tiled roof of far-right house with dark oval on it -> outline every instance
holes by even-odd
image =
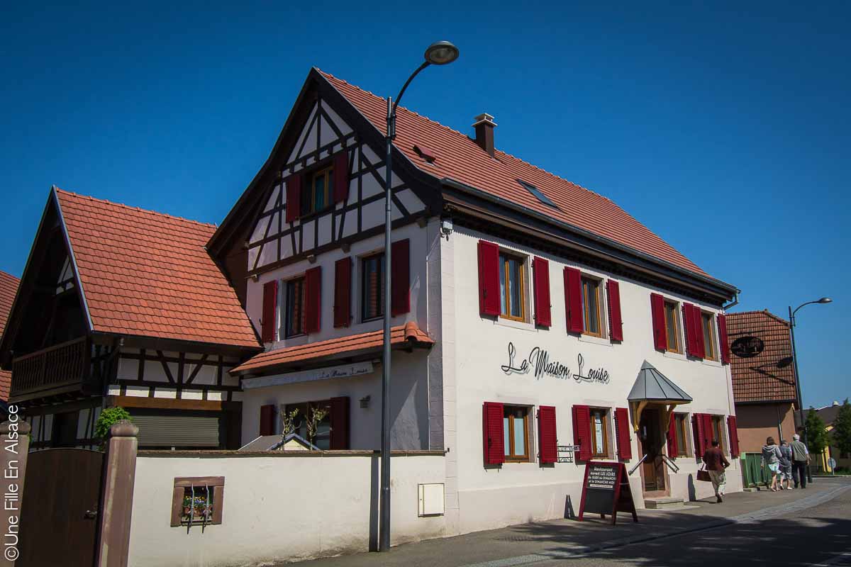
[[[730,354],[733,397],[736,402],[794,400],[795,369],[789,323],[768,311],[743,311],[727,315],[727,334],[733,344],[740,337],[758,337],[765,343],[761,354],[740,358]],[[784,360],[778,367],[778,362]]]

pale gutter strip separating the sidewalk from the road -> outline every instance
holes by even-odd
[[[851,486],[839,486],[814,496],[806,496],[797,502],[760,508],[755,512],[743,513],[731,518],[717,519],[714,522],[710,521],[705,524],[695,525],[691,528],[683,528],[682,530],[669,531],[658,535],[625,537],[620,540],[612,540],[603,544],[579,546],[574,551],[529,553],[527,555],[517,555],[516,557],[493,559],[491,561],[483,561],[482,563],[467,564],[463,567],[514,567],[515,565],[528,565],[539,563],[540,561],[551,561],[553,559],[580,558],[591,555],[591,553],[594,552],[602,551],[603,549],[626,547],[637,543],[643,543],[645,541],[660,540],[666,537],[683,536],[685,534],[694,533],[695,531],[715,530],[717,528],[733,524],[750,524],[758,520],[780,516],[785,513],[799,512],[809,507],[819,506],[820,504],[833,500],[835,496],[838,496],[845,490],[851,490]],[[834,562],[826,565],[839,565],[839,563]]]

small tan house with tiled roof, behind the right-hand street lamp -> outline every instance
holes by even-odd
[[[768,311],[727,315],[730,371],[742,451],[760,452],[765,439],[795,434],[795,365],[789,322]]]

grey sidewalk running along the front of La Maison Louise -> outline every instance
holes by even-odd
[[[505,559],[505,565],[533,563],[541,557],[560,558],[657,539],[684,531],[705,530],[734,521],[742,522],[808,507],[831,497],[851,479],[819,479],[806,490],[734,493],[724,502],[688,502],[676,511],[639,510],[638,523],[628,513],[619,513],[618,524],[585,516],[585,522],[557,519],[518,524],[500,530],[480,531],[391,548],[389,553],[357,553],[336,558],[302,562],[305,567],[463,567]],[[524,560],[528,556],[528,560]],[[500,561],[500,563],[503,563]],[[282,564],[283,565],[283,564]]]

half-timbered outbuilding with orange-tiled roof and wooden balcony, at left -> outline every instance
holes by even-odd
[[[114,405],[143,448],[242,445],[228,370],[260,345],[204,249],[214,230],[50,190],[0,343],[32,448],[96,445]]]

